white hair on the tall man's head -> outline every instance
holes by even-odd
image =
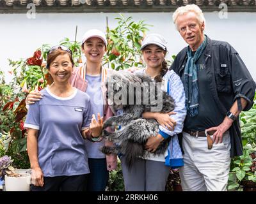
[[[177,25],[177,18],[180,15],[184,15],[185,13],[188,13],[188,12],[191,12],[191,11],[196,14],[196,18],[198,19],[200,24],[202,24],[203,22],[205,24],[204,13],[199,8],[199,6],[197,6],[195,4],[188,4],[187,6],[180,6],[179,8],[177,8],[177,10],[172,15],[173,22],[175,23],[176,29],[178,31],[179,31],[179,29],[178,29],[178,25]]]

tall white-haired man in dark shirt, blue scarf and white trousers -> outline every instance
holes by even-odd
[[[173,22],[188,43],[171,67],[184,84],[188,111],[182,131],[182,189],[226,191],[230,156],[243,154],[239,113],[252,107],[255,82],[230,44],[204,34],[198,6],[177,8]]]

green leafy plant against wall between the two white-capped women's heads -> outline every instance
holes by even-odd
[[[143,66],[141,58],[141,40],[148,31],[144,20],[134,22],[132,17],[125,18],[120,14],[118,26],[109,29],[107,25],[108,47],[104,56],[104,64],[112,69],[128,69]]]

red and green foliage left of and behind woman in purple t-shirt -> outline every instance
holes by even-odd
[[[60,41],[74,53],[74,62],[79,64],[81,45],[68,38]],[[9,59],[13,75],[12,82],[6,84],[4,73],[0,71],[0,135],[1,147],[13,157],[13,164],[19,168],[29,168],[26,152],[26,129],[24,117],[27,114],[25,98],[29,91],[44,89],[51,84],[51,77],[45,68],[47,52],[51,46],[45,44],[38,48],[33,57],[12,61]],[[42,50],[42,51],[41,51]]]

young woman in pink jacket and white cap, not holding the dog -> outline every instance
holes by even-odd
[[[113,112],[106,103],[106,92],[102,82],[113,70],[102,66],[102,58],[106,52],[107,40],[102,31],[91,29],[83,36],[82,50],[86,57],[86,63],[72,71],[70,83],[73,87],[86,92],[90,96],[92,113],[103,120],[113,115]],[[28,104],[40,100],[42,96],[38,92],[31,92],[26,101]],[[87,191],[105,191],[108,182],[108,171],[116,168],[116,155],[105,156],[100,152],[102,142],[90,142],[86,140],[85,149],[88,152],[88,163],[90,175],[88,178]],[[105,145],[112,145],[106,143]]]

